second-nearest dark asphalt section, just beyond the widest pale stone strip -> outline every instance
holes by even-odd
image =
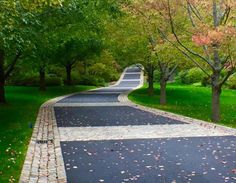
[[[59,127],[185,124],[129,106],[55,107]]]

